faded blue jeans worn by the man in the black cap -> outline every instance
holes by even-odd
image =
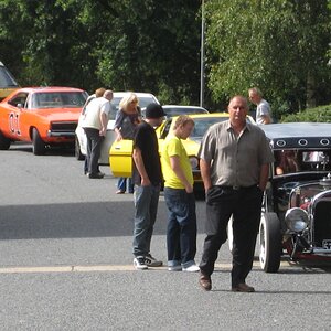
[[[153,226],[157,220],[160,185],[135,186],[136,206],[134,228],[134,255],[148,256]]]

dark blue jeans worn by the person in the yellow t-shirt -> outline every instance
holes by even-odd
[[[164,188],[168,206],[167,248],[168,266],[182,265],[188,268],[195,264],[196,214],[193,193],[185,190]]]

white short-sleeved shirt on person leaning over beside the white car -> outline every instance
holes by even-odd
[[[93,99],[85,110],[85,118],[83,119],[83,128],[102,129],[102,113],[109,115],[111,109],[110,102],[104,97]]]

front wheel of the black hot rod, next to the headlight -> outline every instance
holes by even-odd
[[[259,263],[265,273],[277,273],[281,258],[280,222],[276,213],[264,213],[259,224]]]

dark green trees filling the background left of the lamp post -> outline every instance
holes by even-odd
[[[200,6],[0,0],[1,61],[21,85],[104,85],[152,92],[167,103],[197,103]]]

